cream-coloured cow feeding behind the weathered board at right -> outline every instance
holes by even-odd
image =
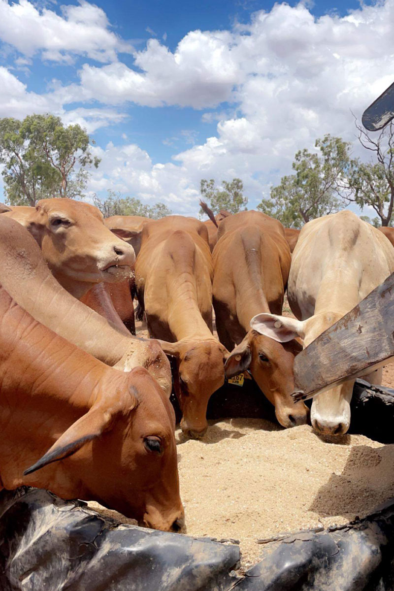
[[[299,336],[308,346],[393,271],[393,248],[379,230],[349,211],[320,217],[302,228],[292,255],[288,299],[298,320],[259,314],[251,324],[278,342]],[[381,376],[377,369],[366,379],[379,384]],[[313,399],[311,421],[318,433],[349,429],[353,385],[345,382]]]

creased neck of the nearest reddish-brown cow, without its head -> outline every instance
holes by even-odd
[[[2,397],[63,401],[76,414],[89,410],[100,391],[124,387],[127,375],[109,368],[38,323],[0,287]],[[19,402],[17,402],[19,400]],[[40,404],[40,402],[38,403]],[[60,409],[55,409],[61,415]]]

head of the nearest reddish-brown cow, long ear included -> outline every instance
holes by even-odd
[[[25,470],[31,476],[23,482],[66,498],[94,499],[139,525],[180,531],[184,511],[172,405],[146,369],[110,372],[116,387],[99,393],[90,410]]]

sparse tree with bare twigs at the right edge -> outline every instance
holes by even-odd
[[[348,202],[355,202],[363,209],[373,207],[379,216],[379,225],[389,226],[394,205],[394,126],[387,125],[377,138],[371,138],[356,124],[359,141],[374,154],[376,161],[363,163],[352,160],[347,178]],[[376,218],[375,218],[376,219]]]

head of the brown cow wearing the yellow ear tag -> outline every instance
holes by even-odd
[[[294,427],[308,421],[304,402],[294,404],[294,357],[302,350],[296,340],[278,343],[250,330],[226,361],[227,378],[249,369],[256,384],[275,407],[283,427]]]

